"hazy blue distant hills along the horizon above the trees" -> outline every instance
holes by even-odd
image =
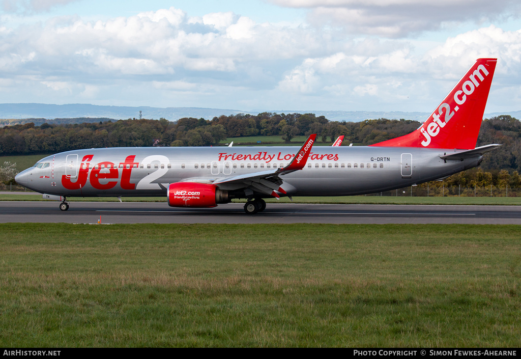
[[[0,126],[34,122],[39,126],[47,123],[83,123],[108,121],[108,119],[139,118],[166,118],[177,121],[183,117],[212,119],[221,115],[236,115],[239,113],[257,115],[261,112],[271,113],[314,113],[316,116],[325,116],[330,121],[358,122],[365,119],[412,119],[423,122],[430,115],[427,112],[386,112],[386,111],[316,111],[316,110],[267,110],[267,111],[240,111],[226,109],[206,109],[202,107],[129,107],[129,106],[98,106],[91,104],[49,105],[41,103],[3,103],[0,104]],[[511,115],[521,118],[521,111],[508,113],[489,113],[485,117]],[[15,120],[15,121],[13,121]],[[18,120],[18,121],[16,121]]]

